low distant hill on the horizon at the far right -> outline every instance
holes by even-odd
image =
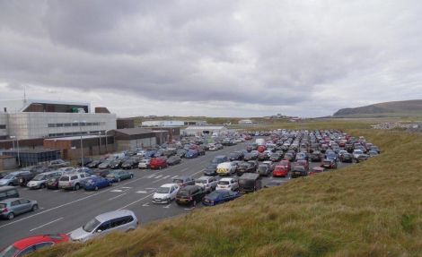
[[[334,117],[422,116],[422,100],[394,101],[365,107],[339,109]]]

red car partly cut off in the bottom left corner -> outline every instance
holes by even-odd
[[[69,236],[65,234],[30,236],[16,241],[4,248],[4,250],[0,252],[0,256],[26,256],[26,254],[40,250],[41,248],[68,241]]]

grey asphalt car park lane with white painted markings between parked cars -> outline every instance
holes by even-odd
[[[199,158],[183,158],[180,165],[163,170],[133,169],[133,179],[115,183],[111,187],[97,192],[63,191],[63,190],[29,190],[18,187],[21,197],[36,200],[40,210],[17,216],[13,220],[0,220],[0,249],[22,237],[70,233],[77,227],[83,226],[95,216],[110,211],[127,209],[133,210],[141,224],[153,220],[170,218],[187,213],[194,208],[181,207],[175,202],[157,205],[151,202],[154,190],[162,184],[171,183],[175,176],[203,176],[203,170],[216,155],[228,154],[233,150],[241,150],[245,144],[225,147],[224,150],[207,151]],[[318,163],[310,163],[310,168]],[[338,168],[347,164],[339,164]],[[289,178],[264,177],[262,184],[271,180],[286,182]],[[202,208],[198,205],[196,208]]]

